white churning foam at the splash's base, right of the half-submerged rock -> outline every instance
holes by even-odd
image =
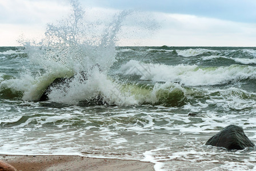
[[[138,101],[133,96],[122,92],[117,83],[112,82],[106,75],[98,71],[93,72],[91,77],[84,82],[79,82],[79,78],[72,80],[69,88],[65,89],[66,87],[53,88],[49,94],[50,100],[59,103],[76,104],[78,101],[90,101],[101,95],[103,100],[109,104],[138,104]]]

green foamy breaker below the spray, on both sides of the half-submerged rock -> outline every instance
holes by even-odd
[[[0,95],[6,99],[15,97],[37,101],[46,87],[56,78],[56,75],[46,75],[38,77],[37,80],[29,75],[20,79],[5,80],[0,84]],[[63,83],[51,87],[48,96],[50,101],[69,105],[93,104],[95,100],[102,100],[103,104],[125,106],[140,104],[180,106],[186,103],[187,95],[192,92],[191,89],[183,88],[176,83],[152,85],[116,83],[107,75],[96,71],[83,82],[79,76],[74,76],[68,85]]]

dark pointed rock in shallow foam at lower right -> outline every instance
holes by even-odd
[[[217,133],[217,135],[211,137],[205,145],[220,146],[227,150],[242,150],[246,147],[255,146],[245,135],[243,128],[237,125],[225,127],[221,132]]]

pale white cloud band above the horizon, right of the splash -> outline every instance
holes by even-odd
[[[162,19],[156,42],[169,46],[255,46],[256,24],[156,13]]]

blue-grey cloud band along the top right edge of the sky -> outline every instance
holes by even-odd
[[[151,12],[197,15],[235,22],[255,22],[255,0],[85,0],[85,6],[137,9]]]

